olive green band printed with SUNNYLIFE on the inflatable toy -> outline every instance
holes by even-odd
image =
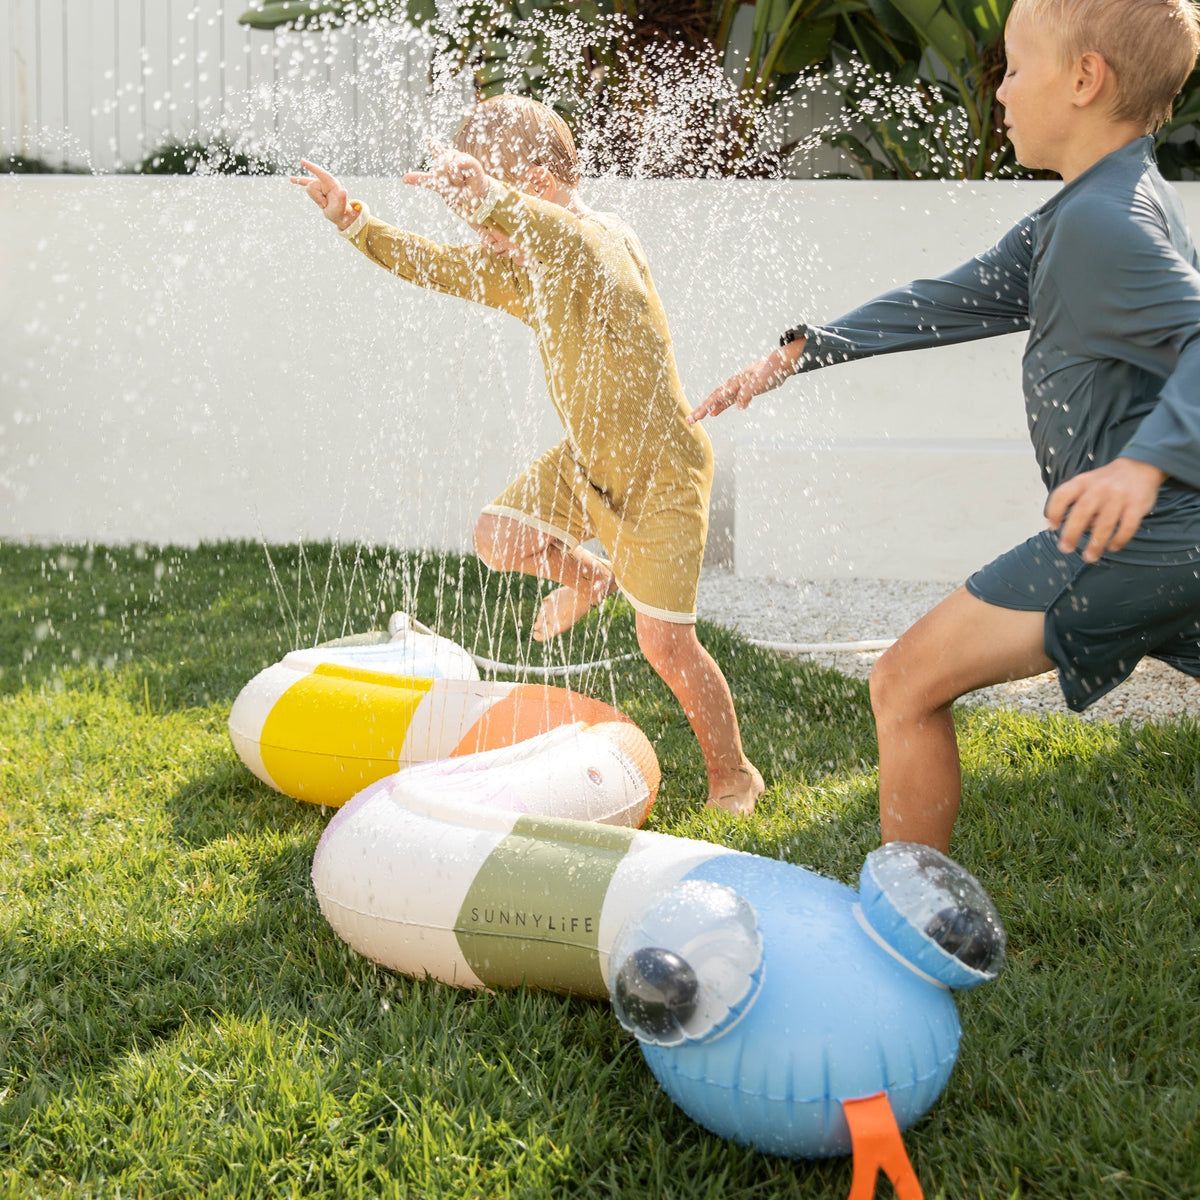
[[[475,875],[455,934],[488,988],[607,995],[600,910],[636,829],[518,817]]]

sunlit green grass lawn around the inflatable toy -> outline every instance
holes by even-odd
[[[491,658],[538,588],[329,546],[0,546],[0,1196],[842,1198],[659,1091],[608,1006],[476,995],[349,950],[308,868],[329,814],[226,733],[242,684],[394,608]],[[877,839],[865,685],[702,625],[768,791],[701,808],[683,714],[595,670],[655,743],[650,828],[848,883]],[[575,659],[634,648],[611,605]],[[905,1135],[926,1195],[1200,1196],[1200,731],[964,709],[954,854],[1008,928]],[[890,1195],[881,1184],[880,1195]]]

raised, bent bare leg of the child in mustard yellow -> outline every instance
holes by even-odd
[[[475,523],[475,553],[493,571],[522,571],[560,584],[541,602],[535,641],[557,637],[617,590],[607,564],[581,546],[568,550],[552,534],[485,512]]]

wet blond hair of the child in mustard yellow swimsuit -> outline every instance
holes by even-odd
[[[570,187],[580,181],[580,158],[566,121],[527,96],[493,96],[476,104],[455,131],[452,145],[514,186],[524,184],[530,167],[545,167]]]

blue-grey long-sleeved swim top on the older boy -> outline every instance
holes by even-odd
[[[1106,155],[1001,241],[808,338],[797,373],[1028,330],[1025,410],[1046,488],[1118,456],[1170,476],[1126,562],[1200,558],[1200,260],[1151,138]]]

